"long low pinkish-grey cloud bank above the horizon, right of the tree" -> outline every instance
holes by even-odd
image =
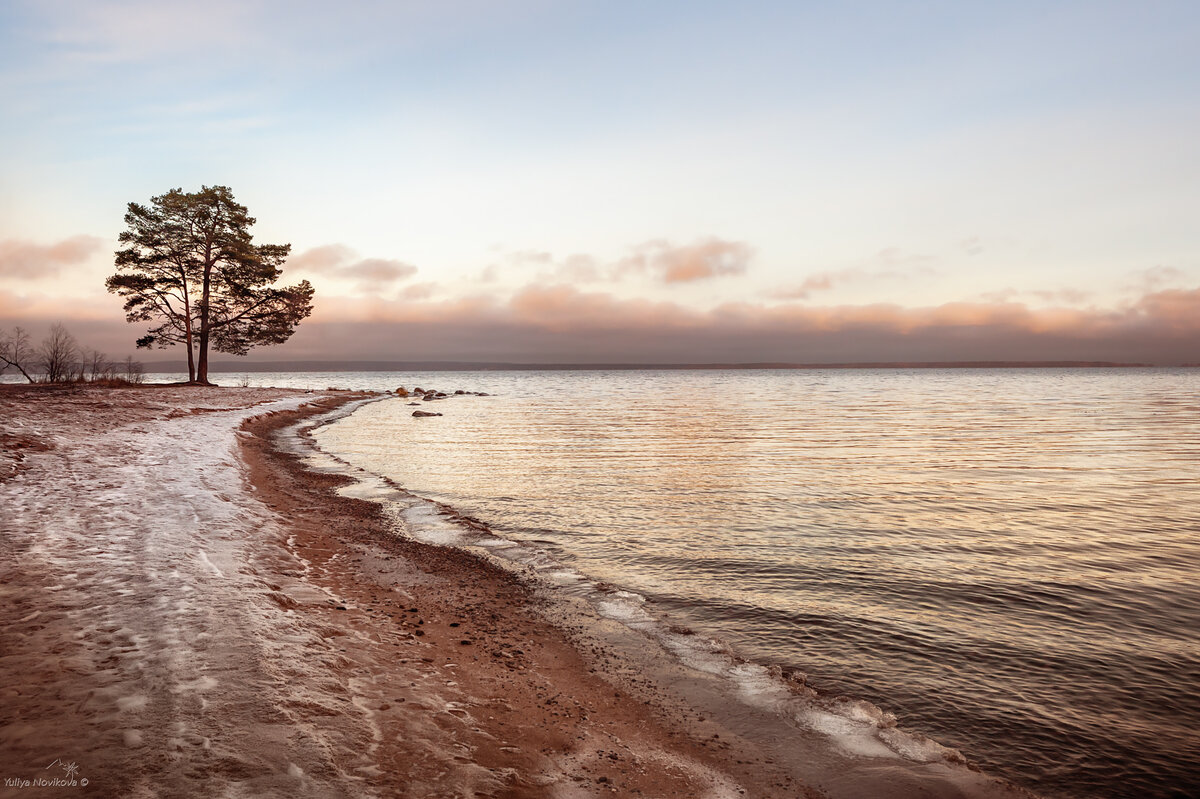
[[[314,322],[314,328],[330,332],[329,341],[346,341],[361,358],[397,360],[1200,360],[1200,289],[1147,294],[1109,310],[1030,308],[1019,302],[949,302],[924,308],[730,302],[700,311],[568,284],[530,284],[508,301],[488,296],[443,302],[380,300],[370,308],[346,301],[337,308],[326,306]]]

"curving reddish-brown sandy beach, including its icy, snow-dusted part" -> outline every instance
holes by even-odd
[[[512,573],[272,445],[359,396],[0,390],[2,795],[1025,795],[821,785],[655,701]]]

